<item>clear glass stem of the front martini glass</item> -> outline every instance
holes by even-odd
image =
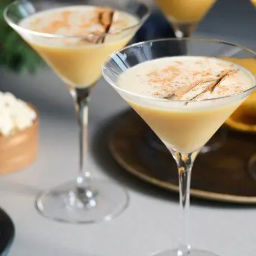
[[[177,163],[179,171],[179,192],[180,192],[180,241],[177,256],[189,256],[191,246],[189,243],[189,197],[191,170],[195,158],[199,152],[184,154],[171,150]]]

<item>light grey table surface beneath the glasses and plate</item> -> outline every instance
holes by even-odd
[[[228,24],[232,26],[233,30],[228,29],[232,35],[227,35],[224,28],[223,33],[221,28],[219,31],[218,26],[223,24],[220,21],[216,29],[212,29],[212,22],[217,22],[227,13],[227,10],[222,10],[224,2],[233,3],[228,12],[237,12],[232,15],[233,20],[225,24],[225,29]],[[254,38],[251,35],[255,33],[255,22],[249,28],[252,20],[249,23],[244,20],[249,9],[249,13],[255,10],[248,5],[246,13],[241,13],[246,7],[237,8],[238,2],[242,4],[246,0],[220,0],[196,35],[231,39],[253,47],[256,40],[255,35]],[[234,31],[234,22],[240,28],[237,29],[240,36]],[[247,36],[242,33],[243,26],[250,31]],[[91,147],[87,166],[93,177],[118,180],[127,186],[131,196],[129,207],[115,220],[93,225],[58,223],[40,216],[34,207],[38,191],[74,179],[77,173],[77,126],[72,100],[60,79],[47,68],[34,76],[15,76],[1,70],[0,77],[1,90],[15,92],[40,111],[40,154],[37,161],[20,173],[0,178],[0,205],[10,214],[16,227],[10,256],[149,256],[177,246],[177,195],[131,177],[109,157],[105,127],[127,105],[104,81],[100,81],[92,92]],[[191,205],[191,243],[196,248],[223,256],[255,255],[255,228],[256,207],[207,202],[193,202]]]

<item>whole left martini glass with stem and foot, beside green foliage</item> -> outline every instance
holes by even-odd
[[[79,7],[76,10],[80,10],[88,6],[99,6],[100,10],[105,7],[112,8],[115,12],[133,17],[135,22],[122,29],[108,29],[105,33],[94,33],[87,31],[86,28],[82,33],[75,33],[76,25],[68,27],[75,29],[74,33],[71,29],[66,34],[42,33],[20,26],[20,22],[31,15],[44,15],[63,7],[65,14],[69,15],[74,8]],[[127,206],[127,191],[122,186],[107,180],[91,179],[90,170],[84,168],[84,107],[88,104],[92,86],[101,77],[101,65],[106,56],[124,47],[145,22],[148,14],[148,7],[136,0],[122,1],[122,4],[115,0],[19,0],[9,4],[4,10],[6,22],[44,58],[67,85],[77,111],[79,173],[76,179],[38,195],[36,208],[45,217],[72,223],[92,223],[111,220]],[[42,20],[47,19],[44,16],[40,17],[43,17]],[[55,28],[54,26],[64,21],[57,19],[52,23],[52,27]],[[88,41],[93,44],[88,44]]]

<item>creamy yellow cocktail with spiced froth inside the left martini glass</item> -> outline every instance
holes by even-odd
[[[127,32],[124,29],[135,24],[138,24],[138,19],[126,12],[95,6],[71,6],[36,13],[21,20],[19,25],[31,31],[59,35],[51,38],[22,33],[64,81],[86,87],[101,76],[104,58],[131,40],[137,28]],[[116,33],[118,31],[120,33]],[[102,37],[106,32],[109,34]],[[95,36],[83,38],[92,33]]]

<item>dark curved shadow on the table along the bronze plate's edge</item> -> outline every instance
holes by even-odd
[[[120,113],[119,115],[123,115]],[[137,177],[128,173],[124,168],[122,168],[111,155],[109,150],[109,135],[115,127],[115,122],[118,119],[118,116],[113,116],[108,120],[104,120],[100,125],[99,129],[94,131],[92,137],[90,138],[90,148],[92,156],[94,157],[96,163],[100,168],[113,178],[117,182],[124,184],[129,189],[133,189],[138,193],[143,193],[148,196],[154,196],[162,200],[169,200],[172,202],[179,203],[179,195],[172,191],[167,191],[165,189],[157,188],[152,184],[144,182]],[[236,208],[236,209],[250,209],[255,208],[256,205],[241,205],[234,203],[225,203],[225,202],[213,202],[207,201],[200,198],[191,198],[191,204],[202,206],[202,207],[222,207],[222,208]]]

